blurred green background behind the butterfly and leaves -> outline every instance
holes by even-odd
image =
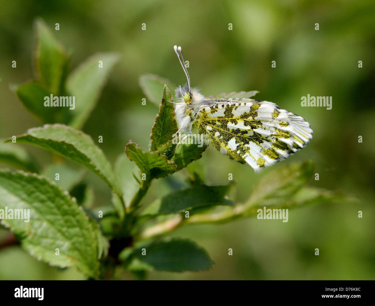
[[[375,279],[374,16],[370,0],[3,2],[0,138],[41,125],[10,90],[11,84],[33,77],[36,17],[42,17],[72,52],[72,68],[100,51],[121,55],[83,128],[94,139],[103,136],[101,148],[112,164],[129,139],[148,147],[158,109],[150,102],[141,105],[139,76],[150,72],[175,84],[186,82],[172,48],[181,45],[192,85],[201,87],[203,94],[258,90],[256,99],[273,101],[311,124],[311,143],[274,167],[311,159],[320,175],[311,185],[341,190],[359,201],[290,210],[287,223],[252,218],[180,228],[173,235],[197,241],[215,265],[199,273],[153,272],[149,279]],[[60,30],[54,30],[55,23]],[[229,23],[233,30],[228,30]],[[314,30],[315,23],[319,30]],[[17,61],[16,69],[12,60]],[[271,68],[272,60],[276,68]],[[308,94],[332,96],[332,110],[301,107],[301,97]],[[25,148],[40,164],[51,161],[48,152]],[[189,170],[198,170],[214,185],[227,184],[228,173],[233,173],[234,202],[245,201],[269,171],[256,174],[212,148],[188,168],[173,177],[183,182]],[[84,179],[95,189],[95,205],[110,203],[109,188],[95,174],[86,172]],[[172,183],[171,178],[155,181],[146,200],[170,192]],[[0,236],[5,233],[0,229]],[[228,248],[233,256],[228,256]],[[117,277],[132,278],[121,271]],[[0,279],[84,276],[74,268],[58,270],[38,262],[14,246],[0,250]]]

